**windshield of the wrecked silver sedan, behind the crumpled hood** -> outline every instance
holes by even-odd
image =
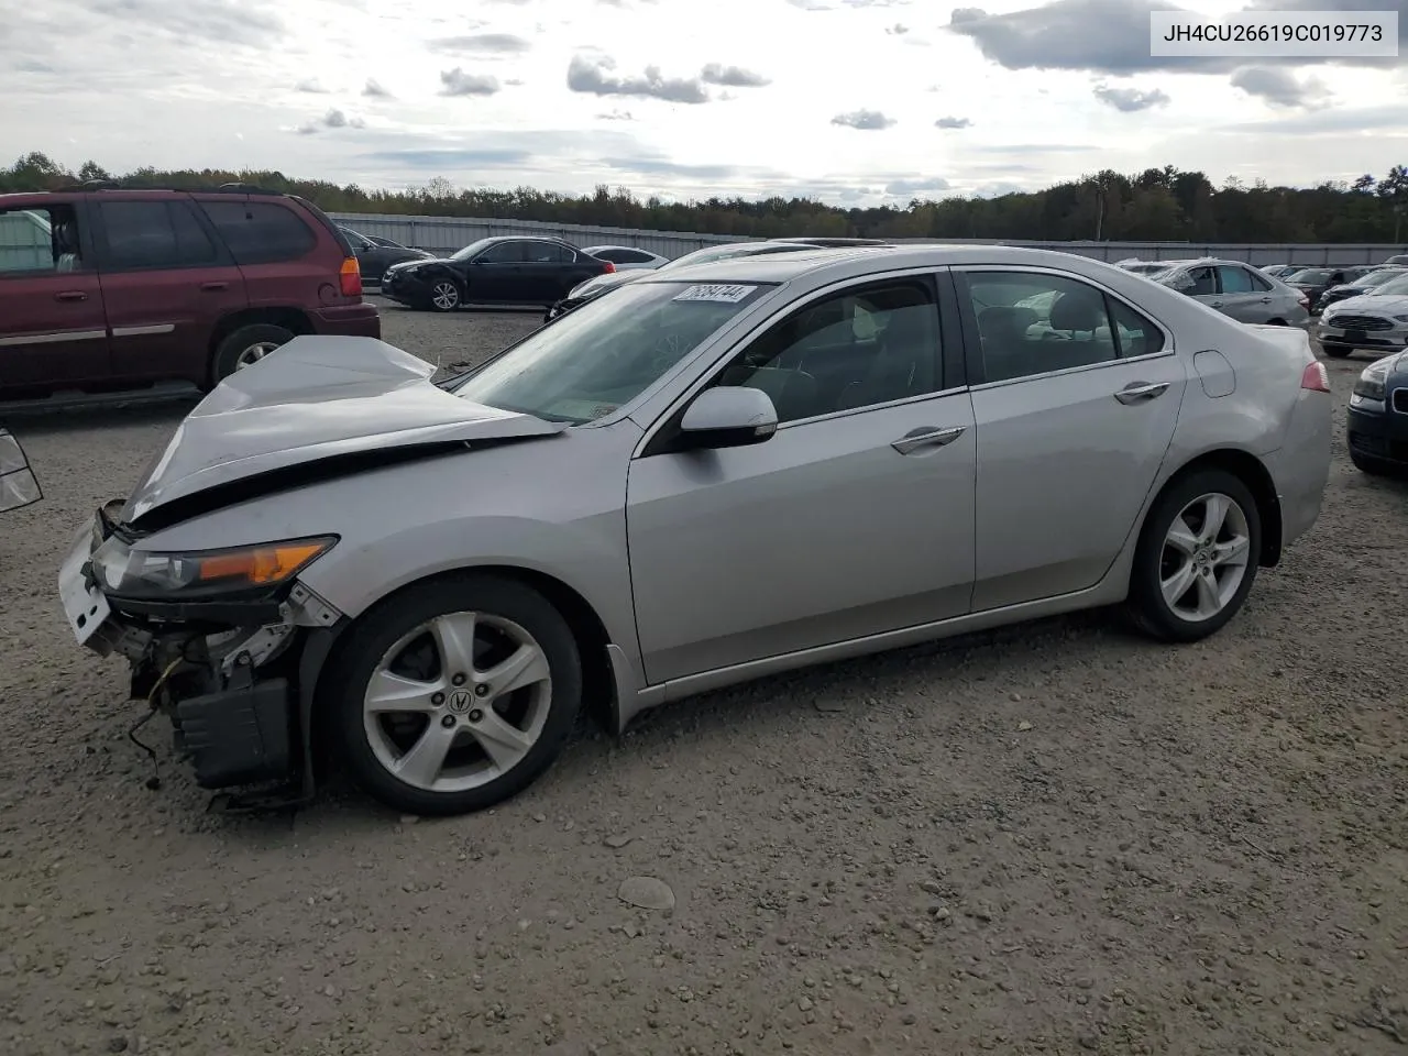
[[[580,425],[643,393],[769,289],[631,283],[534,331],[453,391]]]

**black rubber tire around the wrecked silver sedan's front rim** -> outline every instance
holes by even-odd
[[[363,725],[363,700],[387,650],[421,624],[460,611],[513,621],[535,639],[551,677],[548,715],[536,742],[505,773],[472,788],[432,791],[401,780],[377,759]],[[375,605],[338,645],[327,670],[332,674],[320,690],[324,715],[356,783],[393,810],[427,817],[467,814],[517,796],[562,752],[582,707],[582,656],[567,621],[531,587],[480,573],[429,580]]]

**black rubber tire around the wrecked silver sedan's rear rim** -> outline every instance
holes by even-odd
[[[1236,593],[1228,598],[1219,612],[1205,620],[1187,620],[1164,600],[1160,586],[1164,566],[1164,539],[1173,527],[1173,520],[1183,510],[1205,494],[1222,494],[1240,508],[1246,520],[1249,541],[1246,570]],[[1139,543],[1135,548],[1135,562],[1129,572],[1129,600],[1125,610],[1140,631],[1164,642],[1197,642],[1217,634],[1238,614],[1246,596],[1256,582],[1262,558],[1262,517],[1256,497],[1242,480],[1222,469],[1200,469],[1170,482],[1155,500],[1145,520]]]

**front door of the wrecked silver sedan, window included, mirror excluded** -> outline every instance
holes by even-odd
[[[781,424],[755,446],[631,463],[650,683],[969,611],[973,407],[945,391],[929,276],[825,294],[711,383],[762,389]]]

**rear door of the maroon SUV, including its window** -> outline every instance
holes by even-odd
[[[203,382],[218,321],[248,304],[228,249],[183,197],[104,193],[93,213],[114,376]]]

